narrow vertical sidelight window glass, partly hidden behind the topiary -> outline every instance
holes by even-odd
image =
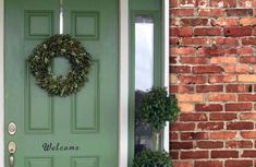
[[[154,20],[135,17],[135,153],[151,148],[151,130],[138,120],[139,100],[154,85]]]

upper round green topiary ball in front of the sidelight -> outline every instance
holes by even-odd
[[[141,100],[139,121],[148,123],[155,132],[160,132],[167,121],[174,121],[180,108],[174,95],[168,95],[164,87],[153,87]]]

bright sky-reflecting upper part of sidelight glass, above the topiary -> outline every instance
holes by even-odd
[[[135,90],[151,88],[154,82],[154,22],[137,16],[135,23]]]

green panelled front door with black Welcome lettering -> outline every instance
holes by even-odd
[[[118,0],[5,0],[5,167],[118,167]],[[26,60],[60,29],[82,41],[95,60],[76,95],[49,97]],[[69,71],[56,59],[56,73]],[[8,126],[15,122],[16,133]]]

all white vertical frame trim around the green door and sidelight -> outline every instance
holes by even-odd
[[[129,155],[129,0],[120,1],[119,167],[127,167]],[[164,11],[164,85],[169,85],[169,0]],[[0,0],[0,166],[4,166],[4,0]],[[164,135],[169,148],[169,128]]]

